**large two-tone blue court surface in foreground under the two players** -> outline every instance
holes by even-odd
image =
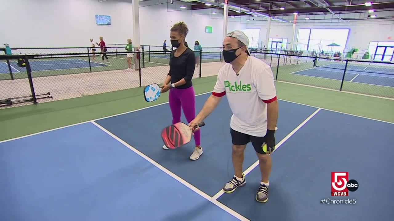
[[[208,96],[196,97],[197,110]],[[162,149],[160,131],[171,124],[168,103],[1,142],[0,220],[370,221],[394,216],[393,123],[280,100],[269,200],[258,203],[260,170],[250,144],[243,162],[246,185],[221,192],[233,175],[231,115],[224,98],[201,128],[204,153],[196,161],[189,160],[194,141]],[[332,197],[331,172],[343,171],[359,188]],[[322,204],[322,199],[356,203]]]

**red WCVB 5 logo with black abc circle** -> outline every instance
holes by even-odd
[[[348,179],[348,172],[331,172],[332,196],[348,196],[348,191],[355,192],[358,188],[356,180]]]

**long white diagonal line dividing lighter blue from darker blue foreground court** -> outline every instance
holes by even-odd
[[[139,156],[141,156],[142,158],[144,158],[145,160],[149,161],[151,164],[153,164],[154,166],[156,166],[157,168],[161,169],[164,173],[167,173],[168,175],[170,175],[172,178],[174,178],[175,180],[177,180],[178,182],[182,183],[183,185],[185,185],[186,187],[188,187],[190,190],[193,190],[195,193],[197,193],[198,195],[200,195],[201,197],[204,197],[206,200],[210,201],[211,203],[215,204],[216,206],[218,206],[219,208],[221,208],[222,210],[228,212],[229,214],[233,215],[234,217],[240,219],[240,220],[248,220],[245,217],[243,217],[241,214],[238,214],[237,212],[235,212],[234,210],[230,209],[229,207],[225,206],[224,204],[220,203],[219,201],[217,201],[216,199],[210,197],[208,194],[204,193],[203,191],[199,190],[198,188],[196,188],[195,186],[191,185],[190,183],[186,182],[184,179],[178,177],[177,175],[175,175],[175,173],[169,171],[168,169],[164,168],[162,165],[158,164],[156,161],[152,160],[151,158],[149,158],[147,155],[141,153],[140,151],[138,151],[136,148],[132,147],[130,144],[126,143],[125,141],[123,141],[121,138],[115,136],[113,133],[111,133],[110,131],[108,131],[107,129],[105,129],[104,127],[102,127],[101,125],[99,125],[98,123],[94,122],[94,121],[90,121],[91,123],[93,123],[93,125],[95,125],[96,127],[100,128],[102,131],[104,131],[105,133],[107,133],[108,135],[112,136],[112,138],[114,138],[115,140],[117,140],[118,142],[120,142],[121,144],[125,145],[126,147],[128,147],[130,150],[132,150],[134,153],[138,154]]]

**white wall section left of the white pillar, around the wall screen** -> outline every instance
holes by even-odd
[[[0,44],[11,47],[85,47],[89,38],[107,43],[132,38],[132,5],[97,0],[2,0]],[[110,15],[111,25],[96,25],[95,15]]]

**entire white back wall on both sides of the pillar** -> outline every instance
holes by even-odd
[[[1,24],[0,44],[11,47],[86,47],[89,38],[99,42],[99,36],[109,43],[125,44],[133,39],[131,0],[0,0],[0,16],[8,21]],[[163,2],[163,0],[161,0]],[[223,14],[210,11],[180,9],[180,4],[157,4],[160,0],[139,2],[140,42],[145,45],[171,46],[171,26],[180,20],[190,29],[186,41],[190,46],[198,40],[202,46],[222,45]],[[147,4],[157,4],[146,6]],[[145,6],[145,7],[144,7]],[[110,15],[111,25],[95,24],[95,15]],[[205,33],[212,26],[212,33]],[[228,30],[243,25],[229,24]]]

